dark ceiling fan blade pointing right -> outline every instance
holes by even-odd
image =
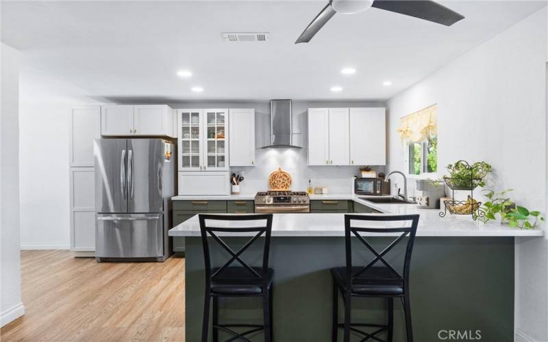
[[[451,26],[457,21],[464,19],[462,14],[459,14],[444,5],[440,5],[436,1],[427,0],[375,0],[371,7],[414,16],[415,18],[432,21],[433,23]]]

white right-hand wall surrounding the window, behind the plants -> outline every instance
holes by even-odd
[[[399,118],[438,103],[438,167],[487,161],[488,187],[546,208],[547,9],[501,32],[388,101],[389,168],[405,170]],[[548,341],[548,240],[516,241],[516,328]]]

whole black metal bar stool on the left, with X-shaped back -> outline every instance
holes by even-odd
[[[264,330],[264,341],[272,341],[272,285],[274,270],[269,268],[270,237],[272,231],[272,214],[264,215],[203,215],[199,214],[203,260],[206,263],[206,291],[203,306],[202,342],[208,341],[210,302],[212,308],[212,337],[219,341],[219,330],[232,334],[226,342],[247,341],[246,335]],[[243,224],[232,223],[245,222]],[[210,225],[210,222],[217,224]],[[247,222],[249,222],[248,225]],[[253,222],[255,224],[253,224]],[[264,222],[264,224],[259,223]],[[254,233],[237,252],[234,252],[217,233]],[[240,257],[249,246],[264,235],[262,265],[249,266]],[[232,257],[221,267],[211,267],[210,244],[212,237]],[[234,236],[234,235],[232,235]],[[240,266],[231,266],[234,261]],[[221,324],[219,323],[219,299],[221,297],[262,297],[263,324]],[[245,332],[236,332],[234,328],[250,328]]]

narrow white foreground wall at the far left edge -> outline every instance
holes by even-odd
[[[25,313],[19,252],[18,51],[0,43],[0,326]]]

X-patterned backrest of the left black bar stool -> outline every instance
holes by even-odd
[[[270,239],[272,231],[272,214],[261,215],[210,215],[199,214],[201,240],[203,245],[203,260],[206,263],[206,285],[210,285],[212,280],[223,281],[232,280],[225,274],[227,268],[235,261],[249,272],[249,278],[238,280],[247,280],[253,282],[266,282],[266,274],[269,268],[269,252]],[[216,222],[216,224],[212,224]],[[230,224],[230,222],[245,222],[245,224]],[[249,224],[248,224],[249,222]],[[262,223],[264,222],[264,224]],[[232,225],[232,226],[231,226]],[[237,227],[236,227],[237,226]],[[238,251],[234,252],[228,244],[223,241],[222,236],[217,233],[222,233],[225,236],[238,236],[238,233],[255,233],[246,244]],[[264,244],[262,250],[262,272],[257,272],[250,265],[242,260],[241,255],[249,246],[253,245],[259,237],[264,235]],[[215,270],[212,274],[211,259],[210,259],[210,244],[208,236],[212,237],[231,257],[221,267]]]

